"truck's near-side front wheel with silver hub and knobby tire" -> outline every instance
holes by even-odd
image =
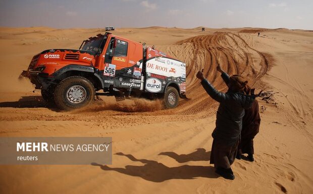
[[[95,95],[92,83],[80,76],[61,81],[54,92],[56,105],[63,110],[73,110],[90,104]]]

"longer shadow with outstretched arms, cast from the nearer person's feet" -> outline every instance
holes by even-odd
[[[145,180],[152,182],[163,182],[170,179],[194,179],[196,177],[205,178],[217,178],[218,175],[215,174],[215,169],[212,166],[189,166],[183,165],[178,167],[168,167],[162,163],[146,160],[146,159],[136,159],[134,156],[123,153],[117,153],[119,156],[126,156],[131,161],[141,162],[143,166],[132,166],[127,165],[125,168],[110,168],[107,165],[100,165],[97,163],[92,163],[93,166],[99,166],[102,170],[113,170],[119,173],[127,174],[130,176],[138,176]]]

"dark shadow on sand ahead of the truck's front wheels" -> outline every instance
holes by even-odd
[[[22,96],[16,102],[2,102],[0,107],[11,108],[48,108],[53,111],[58,111],[54,105],[47,104],[40,95],[38,96]]]

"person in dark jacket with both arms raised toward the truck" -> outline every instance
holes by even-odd
[[[212,133],[210,163],[214,164],[217,174],[233,180],[235,176],[231,165],[237,154],[244,109],[250,108],[255,96],[245,94],[247,81],[243,77],[239,75],[230,77],[220,65],[218,65],[217,70],[222,73],[221,76],[229,88],[226,93],[216,90],[205,79],[201,71],[198,71],[196,76],[201,80],[205,91],[220,103],[217,111],[216,128]]]

